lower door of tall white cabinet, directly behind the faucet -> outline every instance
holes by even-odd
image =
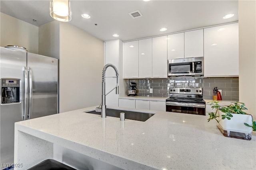
[[[106,93],[108,93],[116,86],[116,77],[106,77],[105,83]],[[116,90],[113,90],[106,96],[106,105],[118,107],[118,94],[116,94]]]

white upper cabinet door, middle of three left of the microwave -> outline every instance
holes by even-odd
[[[139,40],[139,77],[152,77],[152,38]]]

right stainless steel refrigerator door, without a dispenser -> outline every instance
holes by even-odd
[[[27,53],[30,85],[28,119],[58,113],[58,59]]]

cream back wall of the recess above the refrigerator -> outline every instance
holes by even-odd
[[[38,27],[0,13],[0,46],[18,45],[38,54]]]

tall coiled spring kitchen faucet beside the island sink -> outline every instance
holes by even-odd
[[[110,90],[110,92],[108,92],[106,94],[105,92],[105,77],[106,77],[106,69],[108,67],[112,67],[114,68],[115,72],[116,72],[116,86],[112,89],[116,89],[116,94],[119,94],[119,87],[118,87],[118,71],[116,69],[116,66],[114,66],[113,64],[106,64],[103,68],[103,72],[102,72],[102,103],[101,103],[101,117],[102,118],[106,118],[106,96],[112,92],[112,90]],[[96,107],[96,111],[98,111],[100,109],[100,106],[99,107]]]

